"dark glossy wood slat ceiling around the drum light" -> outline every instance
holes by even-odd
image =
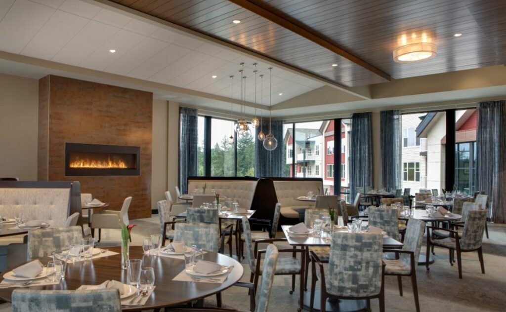
[[[112,0],[347,86],[388,81],[308,38],[225,0]],[[310,30],[393,78],[502,64],[502,0],[266,0],[253,3]],[[502,10],[502,11],[501,11]],[[492,18],[492,20],[490,19]],[[240,24],[232,24],[240,19]],[[480,27],[481,26],[481,27]],[[463,33],[454,37],[456,32]],[[425,40],[435,59],[395,63],[392,52]],[[338,63],[338,67],[332,67]]]

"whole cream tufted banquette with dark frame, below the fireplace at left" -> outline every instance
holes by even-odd
[[[80,212],[79,182],[0,182],[0,215],[14,218],[22,209],[24,219],[49,221],[63,227],[67,217]]]

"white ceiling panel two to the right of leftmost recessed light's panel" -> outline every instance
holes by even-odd
[[[171,65],[190,52],[191,50],[171,44],[141,66],[132,70],[128,75],[134,78],[148,79],[162,68]]]

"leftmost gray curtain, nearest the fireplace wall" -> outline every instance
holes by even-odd
[[[197,175],[197,110],[181,107],[179,109],[179,187],[187,194],[188,176]]]

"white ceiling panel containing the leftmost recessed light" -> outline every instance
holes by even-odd
[[[95,70],[105,70],[145,38],[146,36],[138,33],[120,29],[95,52],[82,61],[79,66]],[[110,53],[109,50],[111,49],[116,50],[116,52]]]

